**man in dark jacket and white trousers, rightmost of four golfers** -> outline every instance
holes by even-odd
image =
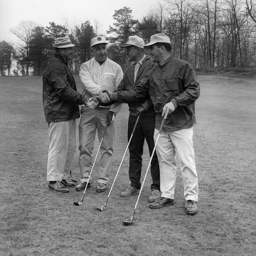
[[[130,100],[138,101],[149,94],[156,112],[154,139],[160,124],[168,113],[164,128],[159,136],[156,151],[160,163],[161,198],[149,204],[150,208],[162,208],[174,204],[177,153],[184,185],[185,209],[187,214],[197,213],[198,180],[193,148],[193,125],[196,124],[195,101],[200,88],[196,72],[190,63],[172,56],[170,38],[155,34],[144,46],[150,49],[151,58],[157,65],[130,89]],[[111,100],[122,100],[124,92],[113,92]],[[127,92],[125,92],[127,95]],[[133,97],[133,98],[132,98]]]

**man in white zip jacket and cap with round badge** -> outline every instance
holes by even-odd
[[[103,102],[108,102],[108,94],[104,90],[113,92],[123,78],[122,68],[107,57],[105,36],[96,36],[91,39],[91,52],[93,58],[84,62],[79,71],[82,86],[86,96],[99,97]],[[96,192],[104,192],[107,188],[108,174],[113,156],[115,139],[115,116],[121,109],[121,103],[108,107],[88,108],[82,105],[79,123],[79,166],[81,171],[80,184],[76,190],[84,190],[91,186],[88,180],[92,169],[92,150],[94,147],[96,131],[101,141],[104,128],[108,125],[105,136],[100,146],[99,177]]]

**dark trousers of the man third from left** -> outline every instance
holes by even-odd
[[[128,120],[128,141],[132,135],[132,130],[136,123],[137,116],[129,115]],[[154,143],[154,130],[155,130],[155,113],[148,116],[140,116],[139,122],[136,129],[132,135],[132,140],[129,145],[130,152],[130,165],[129,165],[129,178],[131,180],[131,186],[140,189],[140,176],[141,176],[141,166],[142,166],[142,154],[144,140],[146,139],[148,143],[149,155],[151,157],[155,143]],[[148,166],[148,164],[147,164]],[[151,177],[153,183],[151,184],[151,189],[155,188],[160,191],[160,171],[159,164],[154,152],[151,161]]]

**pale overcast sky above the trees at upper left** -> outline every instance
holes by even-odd
[[[99,33],[106,35],[108,26],[113,26],[115,10],[130,7],[133,19],[142,20],[156,0],[0,0],[0,41],[16,44],[19,39],[10,32],[22,20],[30,20],[46,27],[49,22],[57,25],[68,23],[70,27],[80,26],[89,20]]]

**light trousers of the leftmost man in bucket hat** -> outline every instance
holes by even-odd
[[[67,180],[76,151],[76,119],[48,123],[47,180]]]

